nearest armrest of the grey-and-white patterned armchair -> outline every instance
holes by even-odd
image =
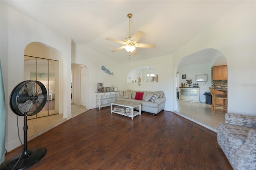
[[[256,129],[249,130],[248,136],[234,154],[234,167],[238,170],[256,169]]]

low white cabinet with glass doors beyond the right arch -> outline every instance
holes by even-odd
[[[180,101],[200,102],[200,88],[180,88]]]

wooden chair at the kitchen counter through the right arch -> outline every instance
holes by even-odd
[[[216,95],[213,87],[209,87],[212,95],[212,111],[215,113],[215,109],[222,109],[228,111],[228,96],[226,95]],[[216,99],[222,99],[223,105],[216,105]]]

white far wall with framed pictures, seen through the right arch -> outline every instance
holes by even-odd
[[[211,87],[212,83],[212,64],[198,64],[198,65],[187,65],[187,66],[179,66],[177,72],[180,74],[180,83],[187,83],[186,79],[192,79],[192,87],[193,83],[198,83],[200,87],[200,102],[205,102],[204,92],[210,91],[209,87]],[[182,74],[186,74],[186,79],[182,79]],[[207,81],[198,82],[196,81],[196,75],[207,74]],[[187,87],[187,86],[186,86]]]

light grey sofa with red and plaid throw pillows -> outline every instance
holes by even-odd
[[[122,91],[122,96],[117,99],[122,101],[131,101],[141,103],[141,111],[153,113],[156,116],[164,110],[166,98],[163,91]],[[134,108],[139,110],[139,107]]]

